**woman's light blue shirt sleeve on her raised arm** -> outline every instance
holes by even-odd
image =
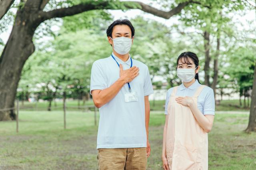
[[[214,92],[210,89],[204,99],[204,115],[215,115]]]

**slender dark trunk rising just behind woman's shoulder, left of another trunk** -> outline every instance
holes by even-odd
[[[204,53],[204,84],[210,86],[210,33],[207,31],[204,32]]]

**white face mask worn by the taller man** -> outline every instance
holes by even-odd
[[[118,54],[121,54],[121,55],[127,54],[132,47],[132,39],[131,38],[119,37],[119,38],[114,38],[112,40],[114,42],[114,50]]]

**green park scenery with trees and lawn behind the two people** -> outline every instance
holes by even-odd
[[[148,65],[154,86],[147,169],[162,169],[164,100],[181,83],[176,59],[184,51],[198,55],[200,82],[215,93],[209,169],[256,169],[255,6],[254,0],[0,0],[0,169],[97,169],[99,113],[90,71],[110,56],[106,28],[119,18],[134,25],[130,54]]]

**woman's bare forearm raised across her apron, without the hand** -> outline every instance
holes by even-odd
[[[192,111],[192,113],[193,113],[194,117],[196,118],[196,121],[199,123],[200,127],[202,127],[204,129],[204,131],[210,132],[210,130],[212,129],[213,120],[205,117],[201,113],[201,111],[198,109],[198,107],[196,106],[195,103],[190,104],[188,107]]]

